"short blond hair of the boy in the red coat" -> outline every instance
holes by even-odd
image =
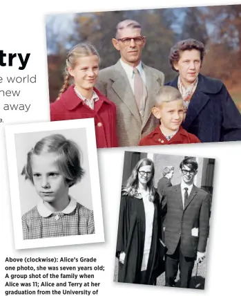
[[[164,102],[168,103],[176,100],[183,100],[180,91],[173,86],[165,85],[160,88],[160,91],[155,98],[155,107],[160,106]]]

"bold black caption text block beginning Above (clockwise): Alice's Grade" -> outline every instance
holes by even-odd
[[[5,295],[98,295],[104,269],[94,257],[6,257]]]

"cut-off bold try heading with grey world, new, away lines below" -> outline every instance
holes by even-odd
[[[0,50],[0,66],[12,67],[11,69],[17,71],[23,71],[30,60],[30,53],[5,53]],[[6,75],[0,76],[0,123],[4,122],[7,111],[21,111],[28,112],[31,104],[24,104],[23,101],[17,99],[22,98],[20,85],[23,84],[36,84],[36,75]],[[17,88],[16,88],[17,86]]]

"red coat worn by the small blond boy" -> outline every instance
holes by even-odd
[[[170,144],[189,144],[189,143],[200,143],[200,140],[192,133],[188,133],[181,126],[179,131],[171,138],[166,140],[166,137],[160,130],[160,127],[156,127],[154,131],[149,133],[146,137],[139,141],[138,146],[151,146],[151,145],[170,145]]]

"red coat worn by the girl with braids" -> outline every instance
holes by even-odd
[[[88,107],[75,93],[74,85],[61,94],[59,100],[50,104],[50,120],[73,120],[95,118],[97,148],[118,147],[116,134],[116,107],[94,88],[99,100],[94,110]]]

